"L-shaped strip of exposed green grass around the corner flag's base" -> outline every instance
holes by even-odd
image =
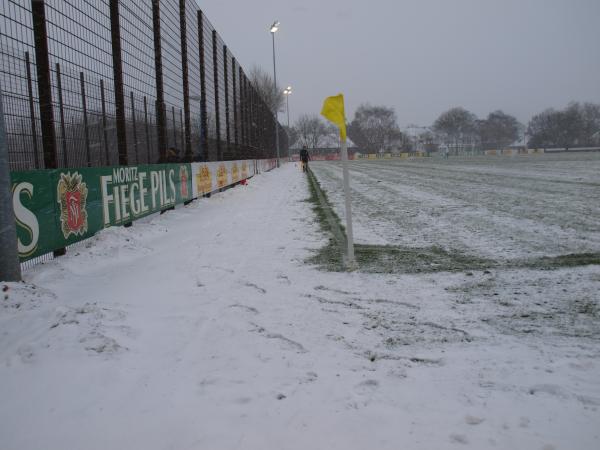
[[[343,260],[346,249],[345,229],[314,174],[309,170],[307,176],[310,189],[308,202],[313,205],[312,209],[321,230],[329,235],[329,242],[309,258],[308,262],[318,265],[323,270],[345,271]],[[489,268],[550,270],[560,267],[600,265],[600,252],[513,260],[504,263],[468,255],[458,250],[447,250],[435,245],[415,248],[355,244],[354,254],[358,270],[365,273],[461,272]]]

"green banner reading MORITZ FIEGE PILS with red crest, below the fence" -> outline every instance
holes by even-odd
[[[192,199],[190,164],[11,173],[21,261]]]

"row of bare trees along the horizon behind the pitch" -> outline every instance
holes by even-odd
[[[250,72],[255,85],[273,112],[282,111],[283,90],[255,66]],[[337,128],[318,114],[304,114],[285,127],[290,147],[337,147]],[[527,125],[501,110],[480,119],[462,107],[451,108],[428,127],[410,136],[402,132],[393,108],[361,104],[347,124],[348,137],[365,153],[390,151],[435,151],[446,148],[473,150],[503,149],[514,143],[529,148],[574,148],[600,146],[600,104],[572,102],[564,109],[546,109],[534,115]]]

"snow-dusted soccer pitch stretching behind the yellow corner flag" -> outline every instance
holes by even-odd
[[[341,164],[311,167],[343,218]],[[474,267],[598,259],[600,153],[359,160],[350,177],[355,240],[371,249],[433,249]]]

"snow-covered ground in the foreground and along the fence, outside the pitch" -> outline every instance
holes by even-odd
[[[0,449],[600,448],[598,266],[323,272],[307,197],[289,164],[0,283]]]

